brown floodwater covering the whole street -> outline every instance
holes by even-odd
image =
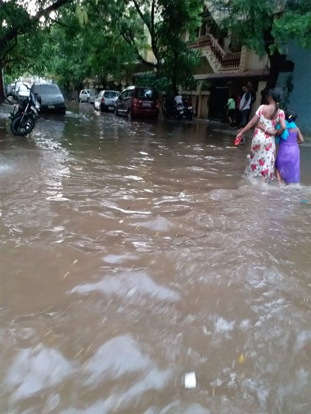
[[[311,412],[309,144],[278,188],[205,123],[0,122],[2,413]]]

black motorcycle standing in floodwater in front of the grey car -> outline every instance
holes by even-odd
[[[27,88],[30,90],[29,96],[21,99],[18,105],[14,106],[13,112],[10,114],[11,132],[13,135],[23,136],[31,132],[35,126],[36,116],[40,111],[40,96],[34,94],[28,86]],[[16,107],[17,111],[15,112]]]

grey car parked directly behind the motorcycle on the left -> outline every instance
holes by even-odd
[[[41,97],[40,112],[66,113],[65,99],[56,84],[36,84],[31,90]]]

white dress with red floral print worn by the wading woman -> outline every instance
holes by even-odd
[[[276,119],[266,119],[264,117],[264,106],[261,105],[256,115],[259,122],[268,129],[274,129],[280,119],[285,119],[284,112],[280,109]],[[273,179],[275,162],[275,142],[274,136],[266,134],[261,129],[255,128],[249,158],[249,167],[254,177],[264,177],[269,180]]]

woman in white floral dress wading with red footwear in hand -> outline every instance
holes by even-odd
[[[238,133],[236,142],[239,143],[242,134],[256,126],[250,149],[249,167],[251,175],[261,177],[262,181],[273,179],[275,163],[275,135],[280,135],[286,129],[285,115],[279,109],[282,98],[280,89],[269,93],[268,105],[261,105],[252,120]],[[276,125],[280,124],[280,129]]]

